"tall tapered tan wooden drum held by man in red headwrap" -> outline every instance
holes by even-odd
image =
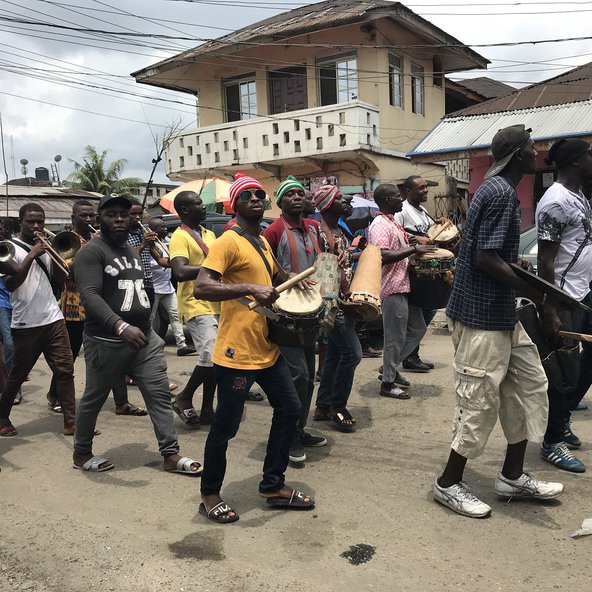
[[[341,303],[343,314],[356,321],[373,321],[380,316],[382,252],[368,245],[360,255],[347,299]]]

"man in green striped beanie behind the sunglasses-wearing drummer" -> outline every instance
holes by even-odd
[[[267,239],[279,264],[288,274],[296,274],[314,265],[319,251],[318,222],[303,219],[305,206],[304,187],[292,175],[277,188],[276,204],[282,210],[280,217],[267,227],[263,236]],[[310,285],[305,282],[306,285]],[[288,362],[294,386],[302,405],[302,414],[294,441],[290,447],[290,460],[304,462],[305,447],[325,446],[327,439],[305,431],[312,393],[314,390],[315,348],[280,347]]]

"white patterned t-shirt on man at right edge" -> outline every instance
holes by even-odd
[[[537,238],[559,243],[555,285],[582,300],[592,281],[592,208],[582,193],[553,183],[536,209]]]

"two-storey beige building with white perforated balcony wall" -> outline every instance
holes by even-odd
[[[445,114],[445,74],[487,64],[400,3],[328,0],[132,75],[197,97],[198,127],[165,155],[171,180],[242,171],[272,193],[293,174],[359,193],[410,174],[443,180],[444,166],[406,153]]]

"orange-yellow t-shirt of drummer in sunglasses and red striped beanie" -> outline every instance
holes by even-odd
[[[263,253],[275,273],[267,241]],[[259,284],[271,286],[271,278],[261,259],[246,238],[233,230],[226,231],[210,248],[204,267],[217,271],[225,284]],[[212,361],[219,366],[241,370],[261,370],[273,366],[280,352],[269,341],[267,319],[248,310],[236,300],[222,302],[218,336]]]

